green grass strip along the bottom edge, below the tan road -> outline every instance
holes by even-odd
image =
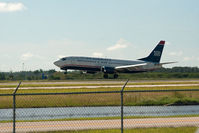
[[[197,127],[163,127],[124,129],[124,133],[195,133]],[[120,129],[80,130],[80,131],[51,131],[51,133],[120,133]]]

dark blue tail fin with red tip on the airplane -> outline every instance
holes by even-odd
[[[165,44],[165,41],[160,41],[158,43],[158,45],[150,53],[149,56],[147,56],[145,58],[138,59],[138,60],[159,63],[160,59],[161,59],[161,56],[162,56],[162,51],[163,51],[163,48],[164,48],[164,44]]]

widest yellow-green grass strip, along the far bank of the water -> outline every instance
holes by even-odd
[[[35,95],[35,96],[27,95],[27,96],[16,97],[17,108],[119,106],[120,102],[121,102],[120,93]],[[124,93],[125,106],[198,105],[198,104],[199,104],[199,92],[187,91],[187,92]],[[12,108],[12,96],[1,96],[0,108]]]

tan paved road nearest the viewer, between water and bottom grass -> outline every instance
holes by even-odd
[[[199,117],[125,119],[124,128],[199,126]],[[121,120],[74,120],[17,122],[17,132],[41,132],[59,130],[116,129]],[[0,133],[12,132],[12,123],[0,123]]]

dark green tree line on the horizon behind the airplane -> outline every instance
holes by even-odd
[[[113,78],[110,76],[110,78]],[[199,78],[198,67],[161,68],[153,72],[119,74],[119,79],[167,79],[167,78]],[[0,72],[0,80],[75,80],[103,79],[103,73],[87,74],[82,71],[64,72],[51,70],[35,70],[21,72]]]

